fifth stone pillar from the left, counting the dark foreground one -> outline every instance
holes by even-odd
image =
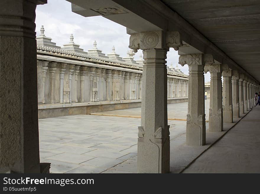
[[[232,106],[232,74],[231,70],[223,71],[223,122],[233,123],[233,106]]]

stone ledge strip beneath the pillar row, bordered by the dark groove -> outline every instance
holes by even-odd
[[[219,141],[230,129],[232,129],[249,111],[242,114],[240,118],[234,118],[233,123],[223,123],[221,132],[212,132],[208,130],[206,124],[206,145],[204,146],[187,146],[186,133],[170,137],[170,173],[182,173],[188,168],[199,156]],[[137,155],[126,161],[109,168],[102,173],[137,173]]]

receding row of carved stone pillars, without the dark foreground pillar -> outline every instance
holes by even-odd
[[[129,48],[144,53],[143,100],[141,126],[138,127],[138,172],[169,172],[170,140],[166,99],[171,92],[167,84],[165,59],[170,47],[182,46],[178,32],[150,31],[132,33]],[[189,66],[186,144],[206,144],[204,72],[210,72],[209,131],[223,131],[223,123],[232,123],[253,107],[259,83],[239,69],[220,64],[210,53],[181,54],[179,64]],[[223,76],[223,91],[222,81]],[[167,88],[166,88],[167,87]],[[168,91],[166,93],[166,91]],[[178,91],[178,89],[177,89]],[[149,162],[148,162],[149,161]]]

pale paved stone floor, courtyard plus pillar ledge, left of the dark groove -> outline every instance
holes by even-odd
[[[209,100],[205,101],[208,113]],[[115,114],[116,111],[111,111]],[[40,161],[51,173],[136,173],[137,126],[140,108],[118,110],[121,116],[74,115],[39,119]],[[185,119],[187,102],[168,105],[168,118]],[[208,114],[206,114],[207,120]],[[181,172],[239,120],[225,123],[223,132],[206,133],[205,146],[186,146],[186,121],[170,125],[170,171]],[[208,128],[208,123],[206,123]]]

